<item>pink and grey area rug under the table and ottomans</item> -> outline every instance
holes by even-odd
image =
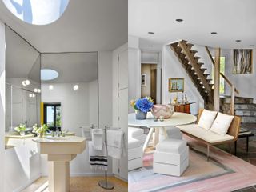
[[[190,166],[181,177],[154,174],[153,154],[146,154],[144,167],[129,172],[129,191],[231,191],[256,184],[256,167],[242,159],[211,149],[206,161],[206,146],[185,137],[190,145]]]

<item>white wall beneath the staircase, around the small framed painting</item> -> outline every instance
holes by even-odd
[[[198,90],[191,81],[186,70],[182,67],[182,64],[178,61],[178,58],[174,55],[173,50],[170,50],[170,46],[163,46],[162,48],[162,103],[170,103],[170,98],[173,99],[178,95],[178,100],[182,100],[182,93],[169,93],[168,91],[168,79],[169,78],[184,78],[184,95],[190,102],[195,102],[190,107],[191,114],[198,114],[198,108],[204,106],[203,99],[198,93]]]

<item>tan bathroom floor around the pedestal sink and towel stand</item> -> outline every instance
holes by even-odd
[[[49,192],[48,178],[39,178],[22,192]],[[103,177],[72,177],[70,178],[70,192],[127,192],[128,183],[119,180],[118,178],[109,177],[108,181],[114,183],[114,190],[104,190],[98,186],[98,181],[103,180]]]

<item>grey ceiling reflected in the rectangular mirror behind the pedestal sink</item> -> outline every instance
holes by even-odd
[[[58,72],[58,78],[49,83],[91,82],[98,79],[98,54],[42,54],[42,69],[52,69]]]

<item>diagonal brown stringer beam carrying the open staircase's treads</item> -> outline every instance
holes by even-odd
[[[206,88],[207,93],[210,94],[211,87],[209,86],[206,77],[203,75],[201,68],[198,66],[198,62],[194,58],[194,55],[191,54],[190,50],[187,48],[186,42],[178,42],[178,45],[182,48],[183,53],[186,54],[186,58],[189,60],[191,66],[193,66],[194,71],[197,73],[198,78],[200,78],[202,85]]]

